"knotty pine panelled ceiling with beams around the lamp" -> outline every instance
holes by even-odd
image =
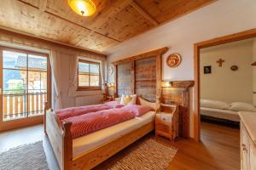
[[[216,0],[94,0],[82,17],[67,0],[1,0],[0,26],[102,52]]]

